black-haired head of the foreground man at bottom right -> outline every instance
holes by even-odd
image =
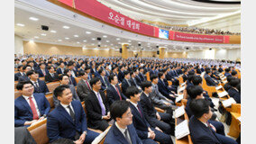
[[[206,99],[194,99],[189,103],[188,106],[197,119],[201,118],[205,113],[210,111],[210,104],[208,101],[206,101]]]

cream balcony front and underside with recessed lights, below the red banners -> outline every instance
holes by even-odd
[[[100,44],[100,49],[116,50],[121,48],[122,43],[129,43],[129,50],[143,49],[147,51],[158,50],[156,46],[166,47],[167,51],[187,51],[185,50],[187,47],[190,48],[189,50],[209,48],[235,49],[241,47],[240,44],[181,42],[142,36],[74,14],[48,1],[15,0],[14,6],[14,34],[22,37],[23,40],[85,47],[87,49],[97,48],[97,45]],[[30,17],[38,18],[38,21],[32,21]],[[18,26],[17,23],[22,23],[24,26]],[[41,25],[49,26],[49,31],[42,31]],[[64,25],[69,26],[69,29],[64,29]],[[56,31],[56,33],[50,31]],[[87,34],[86,31],[91,33]],[[46,34],[46,36],[41,34]],[[74,35],[78,35],[78,37]],[[103,36],[106,36],[106,38]],[[102,40],[92,40],[97,37]],[[69,40],[65,38],[69,38]],[[138,46],[139,43],[142,44],[142,47]]]

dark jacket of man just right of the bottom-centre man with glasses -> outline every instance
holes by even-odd
[[[138,102],[138,106],[142,112],[142,116],[137,108],[130,103],[130,108],[133,113],[133,126],[141,139],[148,139],[148,128],[151,127],[151,125],[144,117],[144,112],[140,102]]]

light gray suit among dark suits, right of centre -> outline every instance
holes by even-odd
[[[169,106],[167,106],[165,103],[173,104],[173,102],[167,101],[167,98],[160,94],[158,85],[152,84],[152,92],[150,94],[150,98],[152,103],[161,109],[169,108]]]

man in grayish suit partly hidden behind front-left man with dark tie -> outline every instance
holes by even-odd
[[[60,85],[69,85],[69,76],[66,74],[60,75],[59,83]],[[69,89],[71,90],[73,100],[80,101],[78,94],[76,92],[75,86],[69,85]],[[52,97],[53,97],[54,107],[57,107],[59,105],[59,100],[57,96],[55,96],[54,94],[52,94]]]

